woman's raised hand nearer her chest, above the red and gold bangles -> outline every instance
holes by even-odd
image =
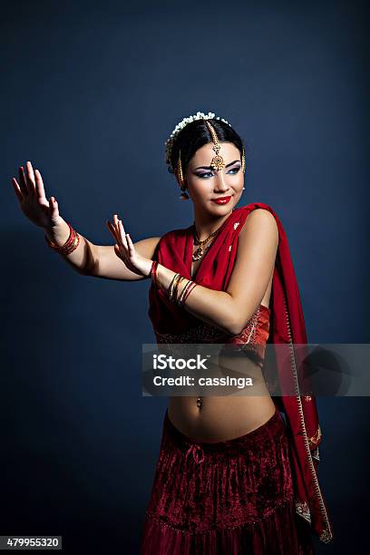
[[[116,242],[114,252],[117,257],[138,276],[150,277],[152,260],[136,252],[130,234],[125,232],[122,220],[118,219],[117,214],[113,215],[113,224],[107,219],[107,226]]]

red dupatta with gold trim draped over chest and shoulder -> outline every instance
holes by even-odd
[[[273,401],[286,416],[287,432],[291,440],[292,472],[296,486],[296,511],[310,523],[313,533],[321,541],[328,542],[333,539],[333,527],[316,474],[319,461],[318,445],[322,437],[316,399],[313,395],[299,394],[294,352],[294,344],[307,344],[306,326],[287,235],[277,214],[262,202],[253,202],[233,209],[229,218],[223,222],[193,278],[190,275],[193,248],[191,226],[165,233],[159,241],[154,259],[166,268],[193,279],[203,287],[225,291],[234,267],[239,231],[253,209],[267,209],[271,212],[276,219],[279,236],[269,306],[268,343],[288,344],[292,352],[288,369],[282,357],[277,354],[277,377],[280,383],[287,383],[288,377],[295,385],[297,394],[273,397]],[[189,329],[200,324],[199,318],[191,315],[185,308],[170,303],[167,294],[153,284],[149,290],[149,302],[148,314],[154,332],[174,336],[174,340],[168,343],[178,343],[179,339],[175,336],[179,337],[181,334],[186,339]],[[190,341],[185,340],[183,343],[190,343]],[[202,343],[201,338],[197,343]]]

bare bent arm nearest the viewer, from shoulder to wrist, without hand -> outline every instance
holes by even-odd
[[[212,326],[237,336],[265,295],[275,266],[278,230],[274,216],[254,209],[240,230],[237,258],[226,291],[198,285],[185,302],[185,309]],[[175,272],[158,265],[157,275],[166,290]],[[188,280],[183,280],[180,291]]]

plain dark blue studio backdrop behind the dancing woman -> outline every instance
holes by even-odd
[[[31,160],[95,243],[112,244],[115,212],[134,241],[161,236],[193,216],[163,143],[216,112],[248,145],[242,204],[267,202],[287,231],[308,340],[368,342],[366,15],[358,1],[3,5],[0,534],[137,553],[166,407],[141,397],[149,282],[73,272],[18,208],[17,167]],[[318,553],[365,552],[368,406],[318,399],[336,527]]]

